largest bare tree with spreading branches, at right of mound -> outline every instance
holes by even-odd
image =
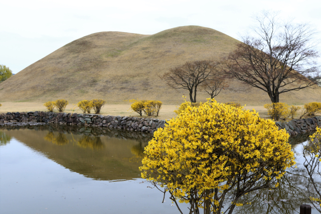
[[[316,85],[320,76],[314,61],[317,32],[308,24],[281,23],[277,18],[269,12],[255,17],[255,37],[243,37],[222,66],[229,77],[268,93],[272,103],[279,102],[282,93]]]

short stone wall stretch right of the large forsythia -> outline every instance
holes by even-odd
[[[307,119],[293,119],[289,122],[276,122],[279,129],[285,129],[290,136],[297,134],[305,134],[316,130],[316,127],[321,127],[321,116]]]

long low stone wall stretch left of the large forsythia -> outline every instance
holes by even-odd
[[[98,114],[54,113],[44,111],[8,112],[0,114],[0,125],[13,123],[56,123],[66,125],[102,126],[153,133],[164,127],[166,120]]]

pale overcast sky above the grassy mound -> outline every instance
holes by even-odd
[[[262,10],[278,10],[284,19],[309,22],[321,31],[320,0],[0,0],[0,64],[18,73],[65,44],[102,31],[155,34],[197,25],[240,40],[253,25],[253,13]]]

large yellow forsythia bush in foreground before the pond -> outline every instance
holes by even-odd
[[[251,185],[277,186],[295,163],[288,133],[255,111],[213,99],[188,105],[167,123],[145,147],[141,177],[166,187],[175,202],[191,203],[196,213],[205,204],[221,213],[219,204],[236,204],[229,198],[240,198]]]

